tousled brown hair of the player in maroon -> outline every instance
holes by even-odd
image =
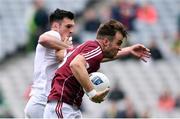
[[[97,31],[97,39],[108,38],[109,40],[113,40],[116,32],[120,32],[124,38],[127,38],[127,30],[124,25],[117,20],[111,19],[110,21],[101,24]]]

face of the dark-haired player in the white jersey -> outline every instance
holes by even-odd
[[[59,32],[61,34],[62,39],[66,37],[72,36],[72,33],[74,32],[74,20],[64,18],[59,27]]]

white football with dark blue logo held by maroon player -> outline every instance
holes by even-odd
[[[96,91],[103,91],[106,88],[110,88],[109,79],[105,74],[100,72],[93,72],[89,77]]]

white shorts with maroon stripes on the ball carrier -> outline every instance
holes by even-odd
[[[46,104],[44,118],[82,118],[82,114],[76,106],[52,101]]]

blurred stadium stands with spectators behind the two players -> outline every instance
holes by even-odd
[[[152,51],[148,63],[129,56],[102,64],[111,93],[101,104],[85,96],[83,117],[180,117],[180,0],[45,0],[43,7],[47,14],[56,8],[76,14],[75,45],[115,18],[130,33],[123,46],[143,43]],[[35,53],[30,33],[39,27],[35,11],[32,0],[0,0],[0,117],[24,116]]]

